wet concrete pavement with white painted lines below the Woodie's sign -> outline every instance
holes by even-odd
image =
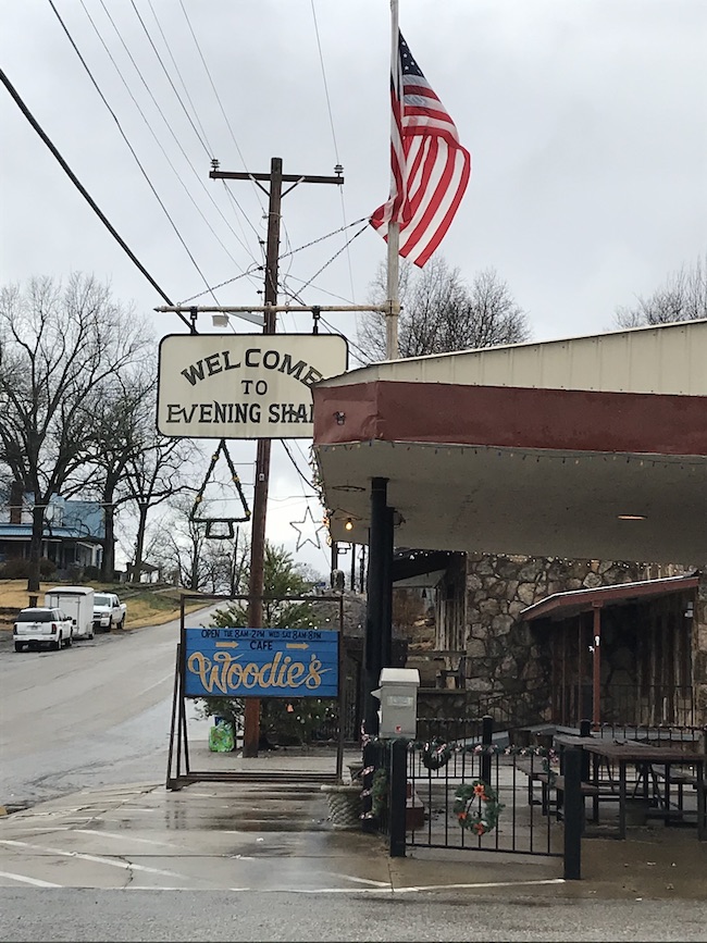
[[[345,772],[359,756],[345,756]],[[134,783],[0,818],[0,885],[705,898],[707,843],[690,829],[587,839],[583,880],[573,882],[562,881],[561,858],[441,848],[389,858],[379,835],[335,829],[319,785],[298,782],[334,764],[335,752],[244,759],[196,745],[193,769],[257,772],[260,781],[197,782],[175,792]],[[276,773],[289,781],[277,782]]]

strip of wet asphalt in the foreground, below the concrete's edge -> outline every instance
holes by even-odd
[[[219,892],[2,891],[13,941],[704,941],[704,904]]]

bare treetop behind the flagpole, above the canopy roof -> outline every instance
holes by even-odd
[[[372,289],[374,303],[382,303],[386,297],[383,265]],[[402,262],[399,295],[400,357],[518,344],[530,336],[528,315],[494,269],[483,270],[468,286],[459,270],[450,270],[442,258],[433,257],[421,271]],[[358,346],[367,362],[386,358],[384,314],[362,315]]]

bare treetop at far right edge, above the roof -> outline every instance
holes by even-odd
[[[672,272],[648,298],[638,297],[632,308],[616,311],[618,327],[671,324],[707,318],[707,256]]]

